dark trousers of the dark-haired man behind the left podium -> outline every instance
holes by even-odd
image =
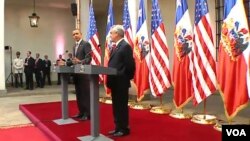
[[[74,77],[76,101],[80,114],[90,116],[90,82],[89,76],[76,74]]]

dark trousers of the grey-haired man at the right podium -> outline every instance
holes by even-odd
[[[111,89],[111,93],[115,129],[127,132],[129,130],[128,88],[117,85]]]

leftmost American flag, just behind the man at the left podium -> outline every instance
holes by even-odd
[[[99,43],[98,32],[96,28],[95,14],[92,3],[89,7],[89,26],[87,40],[91,44],[92,49],[92,65],[101,65],[101,48]],[[103,76],[100,75],[100,82],[103,81]]]

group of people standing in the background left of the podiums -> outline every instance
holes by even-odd
[[[16,52],[16,58],[13,60],[13,70],[14,70],[14,86],[16,88],[23,87],[23,72],[25,75],[26,87],[25,89],[33,90],[34,89],[34,80],[33,74],[35,74],[36,87],[43,88],[45,85],[45,81],[47,79],[47,84],[51,85],[51,61],[48,58],[48,55],[44,55],[44,59],[40,58],[40,54],[36,53],[36,57],[33,58],[31,56],[31,51],[27,51],[27,57],[22,59],[20,57],[21,53],[19,51]],[[72,54],[69,53],[72,58]],[[68,60],[67,59],[67,60]],[[59,60],[65,61],[62,58],[62,55],[59,55],[57,62]],[[56,65],[56,64],[55,64]],[[73,83],[71,77],[69,78],[69,83]],[[58,73],[57,85],[61,84],[61,77]]]

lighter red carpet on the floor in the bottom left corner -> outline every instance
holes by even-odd
[[[35,126],[0,128],[0,141],[49,141]]]

